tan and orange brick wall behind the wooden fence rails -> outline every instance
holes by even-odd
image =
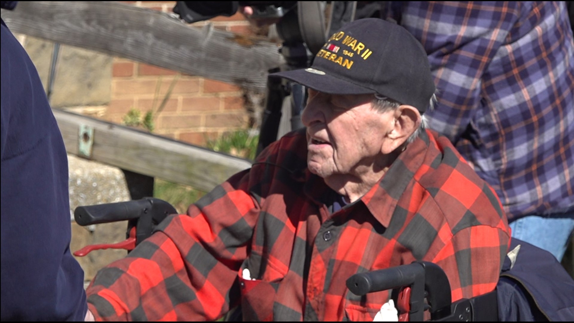
[[[172,12],[175,5],[174,1],[126,3],[164,12]],[[215,17],[193,26],[208,23],[229,32],[254,33],[240,13],[231,17]],[[168,94],[170,87],[172,91]],[[114,58],[111,102],[103,118],[122,123],[130,109],[138,109],[142,115],[153,110],[154,133],[204,145],[208,139],[249,126],[250,116],[244,97],[245,91],[233,84],[181,75],[164,68]],[[158,111],[165,98],[163,109]]]

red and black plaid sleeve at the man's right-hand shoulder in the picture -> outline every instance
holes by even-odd
[[[420,179],[432,198],[425,199],[417,212],[434,228],[423,260],[443,268],[452,301],[457,301],[494,290],[510,245],[510,228],[492,187],[448,139],[439,136],[435,143],[441,155],[430,153],[428,160],[441,159],[443,164]]]

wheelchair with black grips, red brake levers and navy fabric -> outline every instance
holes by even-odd
[[[157,198],[79,206],[82,226],[128,221],[127,239],[115,244],[89,245],[74,252],[85,256],[96,249],[131,251],[176,209]],[[437,264],[413,262],[352,275],[347,288],[361,296],[392,290],[399,321],[573,321],[574,280],[549,253],[513,239],[497,287],[490,293],[452,302],[447,275]],[[428,312],[427,312],[428,311]],[[233,316],[236,318],[236,315]],[[233,321],[234,318],[227,319]]]

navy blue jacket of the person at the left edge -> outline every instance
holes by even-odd
[[[0,28],[1,318],[83,321],[84,273],[69,251],[64,142],[36,68],[3,21]]]

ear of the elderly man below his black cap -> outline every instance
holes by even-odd
[[[422,117],[417,108],[410,105],[401,105],[393,112],[391,128],[386,134],[385,142],[381,149],[382,153],[393,152],[413,134],[421,125]]]

